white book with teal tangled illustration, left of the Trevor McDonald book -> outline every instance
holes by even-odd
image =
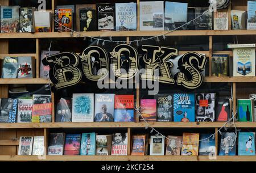
[[[73,94],[72,122],[93,122],[94,94]]]

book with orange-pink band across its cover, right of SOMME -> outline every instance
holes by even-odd
[[[32,123],[49,123],[51,121],[51,95],[33,94]]]

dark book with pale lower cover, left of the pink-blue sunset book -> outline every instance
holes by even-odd
[[[50,133],[48,155],[63,155],[65,133]]]

